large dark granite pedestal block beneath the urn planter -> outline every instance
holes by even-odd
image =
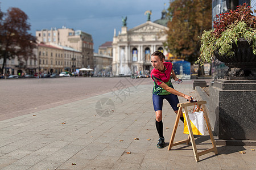
[[[211,82],[209,110],[219,139],[256,140],[256,80]]]

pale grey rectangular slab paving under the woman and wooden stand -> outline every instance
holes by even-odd
[[[117,79],[113,87],[122,84]],[[199,99],[192,80],[174,87]],[[166,101],[166,147],[156,148],[151,93],[152,84],[138,83],[0,121],[0,169],[255,169],[254,147],[217,146],[218,155],[200,156],[198,163],[191,145],[168,151],[176,115]],[[175,141],[185,138],[180,123]],[[212,147],[209,135],[196,137],[196,144],[199,151]]]

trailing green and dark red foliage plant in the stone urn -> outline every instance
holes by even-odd
[[[256,17],[250,6],[244,3],[236,10],[229,10],[224,14],[216,16],[216,21],[212,30],[204,31],[200,40],[200,56],[196,63],[203,65],[212,61],[213,53],[218,50],[221,56],[233,57],[232,44],[236,44],[240,39],[246,39],[253,53],[256,54]]]

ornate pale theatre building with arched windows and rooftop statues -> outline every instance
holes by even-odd
[[[164,13],[166,15],[166,13]],[[150,18],[150,17],[149,17]],[[162,18],[166,19],[166,16]],[[150,57],[156,50],[164,50],[163,42],[166,41],[165,31],[168,29],[167,22],[146,23],[127,30],[123,24],[121,32],[116,36],[114,30],[113,37],[113,63],[112,71],[114,75],[149,74],[152,69]]]

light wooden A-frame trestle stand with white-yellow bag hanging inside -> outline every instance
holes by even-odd
[[[213,147],[209,148],[207,150],[201,151],[201,152],[197,152],[196,143],[195,143],[195,139],[193,137],[193,131],[192,131],[192,128],[191,128],[191,123],[190,123],[190,119],[189,119],[189,116],[188,116],[188,109],[187,109],[188,106],[193,106],[193,105],[195,105],[195,103],[179,103],[179,104],[177,104],[177,107],[179,107],[179,111],[177,112],[177,117],[176,117],[176,121],[175,121],[175,124],[174,124],[174,130],[172,130],[172,136],[171,136],[171,140],[170,140],[170,143],[169,143],[168,150],[171,150],[172,146],[180,145],[182,143],[187,143],[187,145],[188,145],[189,141],[191,140],[192,147],[193,147],[193,153],[194,153],[196,162],[199,162],[199,156],[207,154],[209,152],[213,151],[215,154],[218,154],[216,144],[215,144],[213,134],[212,134],[212,129],[210,128],[210,122],[209,122],[208,114],[207,114],[207,111],[206,111],[205,105],[204,105],[206,103],[207,103],[206,101],[197,101],[198,108],[197,108],[196,112],[198,112],[200,110],[200,107],[202,106],[202,109],[204,111],[205,121],[207,123],[207,128],[208,128],[209,135],[210,135],[210,140],[212,141],[212,146]],[[185,118],[186,118],[187,124],[188,124],[189,135],[188,135],[187,139],[184,139],[182,141],[174,143],[174,137],[175,137],[175,133],[176,133],[176,130],[177,130],[177,125],[179,124],[180,115],[182,113],[183,108],[185,110]]]

